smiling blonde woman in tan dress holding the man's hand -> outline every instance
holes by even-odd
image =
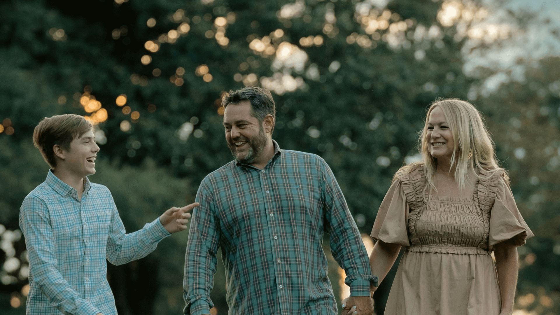
[[[516,247],[533,233],[480,113],[466,101],[437,100],[420,142],[423,161],[395,174],[371,231],[380,281],[405,247],[385,315],[511,314]]]

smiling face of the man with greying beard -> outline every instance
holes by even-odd
[[[236,161],[251,164],[267,145],[267,135],[256,117],[251,115],[248,100],[229,104],[223,113],[227,146]]]

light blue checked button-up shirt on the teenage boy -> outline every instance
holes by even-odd
[[[29,256],[28,315],[115,314],[107,260],[121,265],[152,252],[170,235],[159,218],[125,234],[109,189],[84,179],[76,189],[49,170],[27,195],[20,227]]]

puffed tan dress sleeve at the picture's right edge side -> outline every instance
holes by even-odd
[[[498,180],[496,201],[490,213],[490,234],[488,245],[490,249],[500,242],[511,239],[516,246],[525,244],[525,240],[533,237],[533,232],[523,220],[510,185],[503,176]]]

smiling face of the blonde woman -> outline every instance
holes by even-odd
[[[428,131],[426,133],[426,141],[428,142],[428,151],[433,158],[438,160],[451,161],[455,142],[444,115],[444,111],[440,106],[436,106],[430,112],[428,117]]]

